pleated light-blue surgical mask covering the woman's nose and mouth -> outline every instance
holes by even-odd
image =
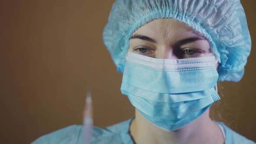
[[[121,92],[151,123],[174,131],[220,99],[215,57],[156,59],[128,52]]]

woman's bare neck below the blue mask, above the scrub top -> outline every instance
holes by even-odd
[[[195,121],[176,131],[158,128],[136,109],[130,131],[136,144],[223,144],[224,142],[219,126],[209,117],[209,109]]]

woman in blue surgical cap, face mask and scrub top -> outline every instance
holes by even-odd
[[[92,144],[254,144],[209,117],[217,81],[240,81],[250,53],[239,0],[117,0],[103,39],[136,111],[95,127]],[[81,130],[33,143],[82,143]]]

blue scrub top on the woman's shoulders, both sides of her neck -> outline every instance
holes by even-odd
[[[134,144],[129,128],[133,118],[128,121],[106,127],[104,129],[94,127],[92,144]],[[220,124],[225,132],[225,144],[256,144],[246,139],[240,134],[228,128],[225,124]],[[82,144],[82,125],[71,125],[58,131],[39,137],[32,144]]]

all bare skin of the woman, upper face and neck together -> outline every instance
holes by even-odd
[[[158,59],[187,59],[209,56],[211,53],[207,39],[185,23],[171,18],[153,20],[141,26],[131,36],[128,51]],[[130,135],[136,144],[224,143],[219,126],[209,117],[209,109],[176,131],[158,128],[136,109]]]

